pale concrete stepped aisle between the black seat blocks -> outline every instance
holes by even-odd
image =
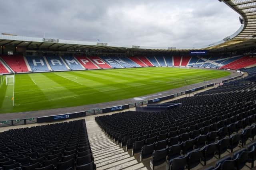
[[[134,156],[113,143],[94,120],[86,121],[86,127],[97,170],[147,170]]]

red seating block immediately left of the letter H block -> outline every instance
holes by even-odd
[[[28,72],[28,67],[26,66],[23,56],[4,55],[2,59],[14,72]]]

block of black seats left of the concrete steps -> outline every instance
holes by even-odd
[[[0,169],[96,169],[84,119],[4,131],[0,143]]]

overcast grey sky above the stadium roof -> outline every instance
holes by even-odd
[[[192,48],[234,33],[238,17],[218,0],[2,0],[0,33]]]

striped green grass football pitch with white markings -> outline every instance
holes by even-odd
[[[14,83],[0,87],[0,113],[122,100],[228,75],[222,70],[170,67],[16,74]]]

